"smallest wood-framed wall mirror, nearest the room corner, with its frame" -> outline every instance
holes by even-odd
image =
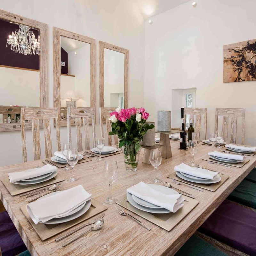
[[[100,41],[100,107],[128,108],[128,53]]]

